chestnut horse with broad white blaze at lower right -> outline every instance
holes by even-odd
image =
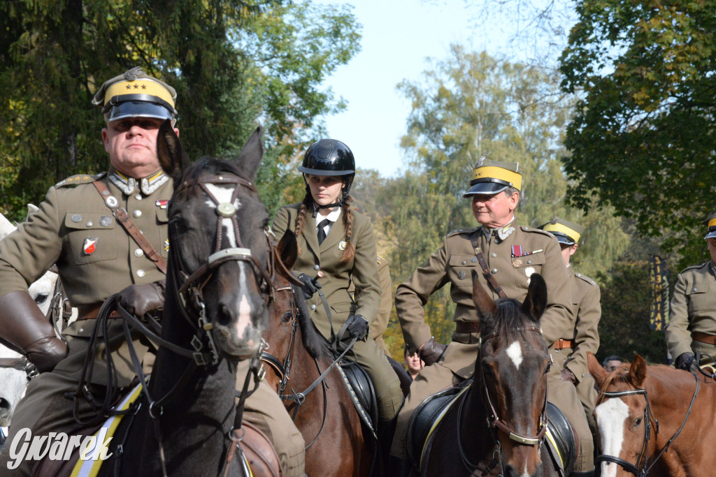
[[[641,356],[611,373],[591,353],[587,363],[601,390],[594,415],[602,477],[714,475],[716,383],[710,376],[647,366]]]

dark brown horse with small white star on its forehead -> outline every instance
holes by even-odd
[[[539,325],[547,303],[545,282],[533,274],[523,303],[495,303],[473,272],[473,301],[482,330],[475,379],[432,432],[420,473],[556,475],[548,452],[541,449],[551,364]]]

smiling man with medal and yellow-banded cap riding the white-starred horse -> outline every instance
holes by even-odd
[[[542,275],[547,284],[548,301],[541,326],[548,343],[563,338],[564,330],[574,327],[571,287],[557,240],[543,230],[519,225],[515,218],[521,185],[522,174],[517,162],[481,158],[473,170],[470,189],[463,195],[470,198],[479,226],[450,232],[440,250],[397,287],[395,308],[405,343],[410,353],[420,353],[425,368],[410,386],[410,395],[398,415],[390,451],[395,458],[407,458],[407,425],[417,405],[432,393],[458,385],[473,375],[480,351],[480,323],[473,304],[473,271],[485,289],[491,290],[495,300],[498,299],[498,292],[485,277],[480,257],[506,296],[519,301],[527,295],[530,276]],[[456,329],[452,342],[445,346],[432,338],[422,307],[435,290],[448,283],[450,296],[457,305],[453,316]],[[579,405],[574,386],[571,394]],[[581,419],[591,439],[584,411]],[[591,453],[587,443],[576,471],[594,469]],[[402,467],[395,461],[392,465]]]

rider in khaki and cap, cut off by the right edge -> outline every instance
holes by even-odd
[[[700,364],[713,365],[716,359],[716,212],[704,222],[708,230],[706,245],[711,260],[692,265],[679,273],[671,300],[671,320],[664,328],[674,366],[689,370],[695,354],[704,356]]]

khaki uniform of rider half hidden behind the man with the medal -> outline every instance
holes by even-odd
[[[574,328],[574,350],[570,353],[564,365],[574,373],[577,378],[577,397],[584,405],[584,413],[591,428],[594,424],[594,405],[598,393],[594,389],[594,378],[589,374],[586,365],[587,351],[596,355],[599,349],[599,320],[601,318],[601,304],[599,303],[599,285],[594,280],[581,273],[575,273],[573,267],[567,267],[572,282],[572,308],[576,316]],[[563,350],[567,351],[567,349]]]

